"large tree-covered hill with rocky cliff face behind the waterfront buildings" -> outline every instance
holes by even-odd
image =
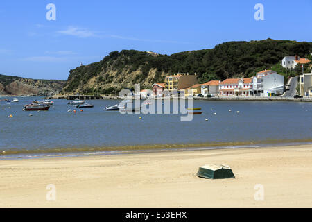
[[[184,72],[198,76],[200,83],[232,77],[249,77],[263,69],[287,74],[281,67],[284,56],[306,58],[312,42],[261,40],[226,42],[214,49],[185,51],[171,56],[153,52],[113,51],[100,62],[72,69],[62,94],[115,94],[124,87],[150,88],[163,83],[164,76]]]

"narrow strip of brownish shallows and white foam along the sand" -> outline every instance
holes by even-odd
[[[29,160],[38,158],[55,157],[80,157],[97,155],[126,155],[137,153],[161,153],[182,152],[236,148],[266,148],[272,146],[300,146],[310,145],[312,139],[284,139],[267,140],[261,142],[210,142],[202,144],[145,144],[130,146],[107,146],[107,147],[85,147],[85,148],[49,148],[42,150],[0,150],[0,161],[2,160]]]

